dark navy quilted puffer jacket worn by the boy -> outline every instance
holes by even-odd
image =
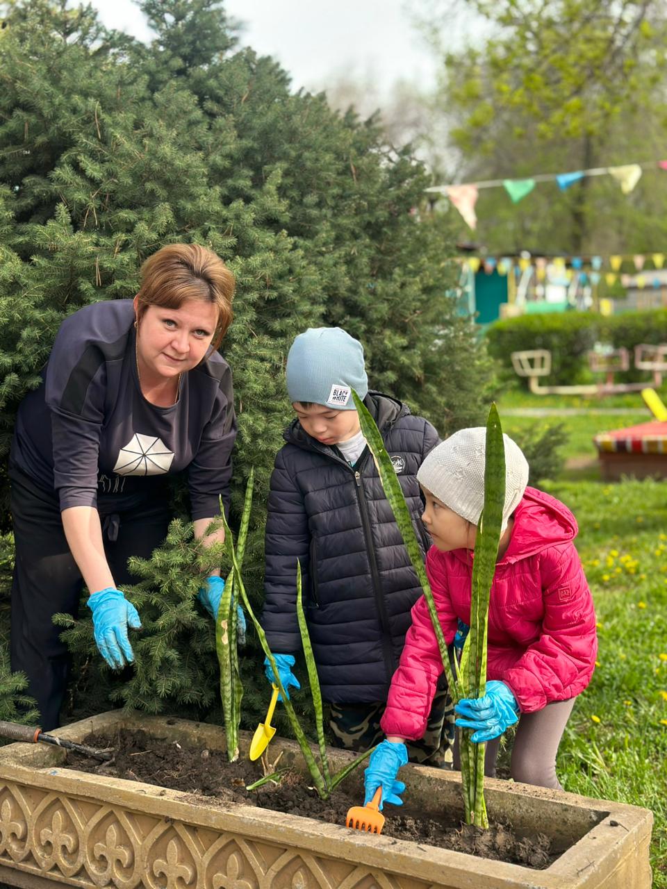
[[[369,392],[366,407],[393,458],[425,552],[430,540],[416,475],[438,433],[405,404]],[[271,476],[262,625],[271,651],[301,649],[296,563],[325,701],[386,701],[410,609],[422,595],[368,448],[352,468],[298,420]]]

